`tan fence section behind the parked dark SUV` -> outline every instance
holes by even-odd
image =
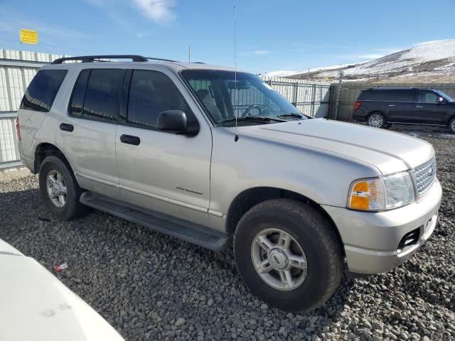
[[[340,103],[338,115],[335,117],[338,84],[331,85],[330,96],[330,118],[341,121],[353,121],[353,104],[362,90],[375,87],[418,87],[422,89],[434,89],[445,92],[455,98],[454,83],[365,83],[365,82],[343,82],[341,83]]]

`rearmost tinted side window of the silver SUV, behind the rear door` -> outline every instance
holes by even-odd
[[[48,112],[67,70],[41,70],[31,81],[23,95],[21,109]]]

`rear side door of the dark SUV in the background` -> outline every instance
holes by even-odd
[[[385,101],[387,121],[406,123],[413,121],[414,106],[417,93],[414,90],[386,90],[383,101]]]

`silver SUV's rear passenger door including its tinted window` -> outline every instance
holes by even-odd
[[[113,197],[119,196],[115,133],[125,72],[80,70],[55,136],[80,186]]]

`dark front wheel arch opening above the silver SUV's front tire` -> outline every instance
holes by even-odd
[[[248,210],[250,210],[253,206],[267,200],[279,198],[296,200],[304,205],[314,207],[314,209],[319,211],[323,217],[326,217],[328,222],[331,224],[331,227],[336,232],[338,242],[340,242],[341,246],[343,246],[343,240],[341,239],[341,234],[338,232],[335,222],[333,222],[331,216],[328,215],[326,210],[324,210],[321,205],[305,195],[301,195],[300,193],[296,193],[291,190],[284,190],[282,188],[255,187],[248,188],[247,190],[239,193],[234,200],[232,200],[229,206],[228,215],[226,217],[226,232],[228,232],[228,234],[234,234],[235,229],[237,229],[237,224],[242,216],[245,215],[245,213],[248,212]],[[343,247],[342,249],[344,250]]]

